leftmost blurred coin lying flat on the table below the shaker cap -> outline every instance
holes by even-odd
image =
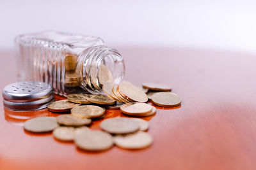
[[[37,117],[27,120],[24,129],[29,132],[51,132],[58,127],[55,117]]]

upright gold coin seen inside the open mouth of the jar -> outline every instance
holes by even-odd
[[[113,75],[111,71],[104,64],[99,67],[99,82],[100,84],[113,82]]]

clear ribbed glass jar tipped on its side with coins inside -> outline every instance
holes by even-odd
[[[120,83],[124,59],[101,38],[46,31],[16,39],[20,81],[44,81],[55,94],[102,93],[104,83]]]

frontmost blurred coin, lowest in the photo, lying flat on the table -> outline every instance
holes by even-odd
[[[113,146],[113,138],[110,134],[88,129],[79,129],[79,131],[76,131],[74,141],[78,148],[89,151],[107,150]]]

